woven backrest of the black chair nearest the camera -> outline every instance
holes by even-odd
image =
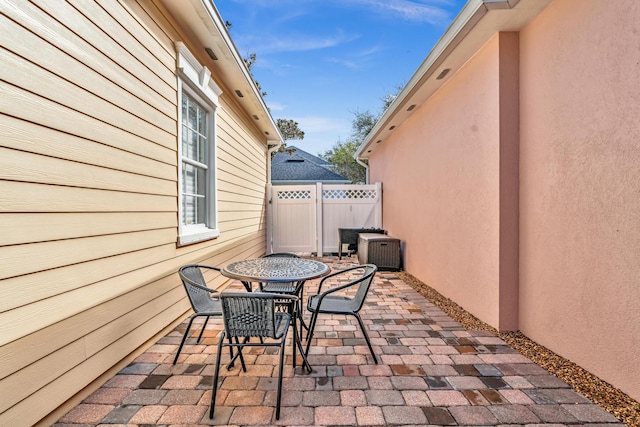
[[[275,298],[262,292],[222,292],[222,317],[228,337],[276,336]]]

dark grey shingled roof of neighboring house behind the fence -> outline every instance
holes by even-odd
[[[351,181],[333,172],[331,163],[297,147],[288,146],[289,153],[276,153],[271,160],[272,184],[350,184]]]

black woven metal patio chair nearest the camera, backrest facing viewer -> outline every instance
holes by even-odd
[[[276,311],[276,300],[297,299],[295,296],[271,294],[263,292],[222,292],[220,301],[224,319],[224,331],[218,342],[218,357],[216,358],[216,369],[213,377],[213,391],[211,394],[211,410],[209,418],[213,418],[215,411],[216,394],[218,390],[218,378],[220,374],[220,359],[222,347],[237,349],[235,358],[240,359],[242,370],[246,372],[247,367],[242,356],[244,347],[279,347],[280,365],[278,369],[278,387],[276,395],[276,419],[280,418],[280,400],[282,395],[282,369],[284,366],[284,345],[287,340],[287,331],[291,322],[291,315],[288,312]],[[224,341],[225,336],[228,342]],[[258,337],[262,341],[252,343],[252,337]],[[242,340],[240,340],[242,338]],[[294,336],[294,340],[301,346],[300,341]],[[302,352],[302,349],[300,348]],[[235,358],[231,359],[227,369],[233,366]],[[304,354],[303,354],[304,358]],[[309,363],[305,365],[311,371]]]

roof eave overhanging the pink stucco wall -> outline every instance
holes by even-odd
[[[519,31],[553,0],[469,0],[400,94],[382,114],[354,157],[366,160],[404,121],[500,31]],[[441,78],[438,76],[444,72]]]

